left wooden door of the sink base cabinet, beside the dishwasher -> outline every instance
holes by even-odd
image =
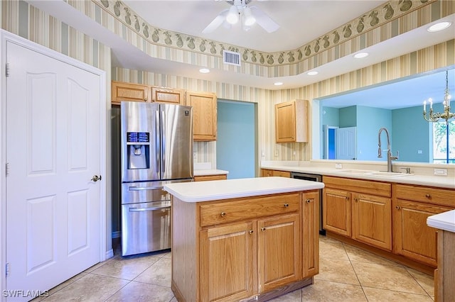
[[[350,237],[350,193],[328,188],[323,189],[322,203],[323,228]]]

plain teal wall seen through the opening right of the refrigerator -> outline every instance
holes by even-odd
[[[217,169],[228,179],[255,177],[255,104],[218,99]]]

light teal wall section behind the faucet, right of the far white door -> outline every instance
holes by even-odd
[[[378,158],[378,133],[385,127],[392,135],[392,112],[388,109],[357,106],[357,159],[387,161],[382,155]],[[390,138],[392,142],[392,138]],[[387,148],[387,136],[381,134],[382,149]],[[392,145],[392,151],[394,151]]]

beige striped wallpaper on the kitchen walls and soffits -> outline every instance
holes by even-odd
[[[223,67],[220,64],[220,57],[210,56],[205,53],[189,52],[186,50],[166,47],[153,43],[144,35],[139,35],[134,27],[127,26],[114,14],[109,13],[97,0],[66,0],[75,9],[93,18],[105,28],[127,40],[132,45],[143,50],[151,57],[160,57],[166,60],[189,62],[191,64],[205,64],[208,67]],[[392,2],[392,1],[391,1]],[[397,1],[394,1],[397,2]],[[413,1],[427,2],[427,1]],[[110,69],[109,47],[98,43],[65,23],[56,20],[52,16],[35,9],[24,1],[1,1],[2,6],[2,28],[16,33],[37,43],[48,46],[59,52],[63,52],[78,60],[87,62],[90,65],[101,69]],[[417,5],[415,6],[417,7]],[[399,33],[412,30],[425,23],[432,22],[441,16],[447,16],[455,12],[454,1],[428,1],[427,4],[418,6],[418,9],[410,10],[400,18],[382,23],[362,35],[357,35],[350,40],[343,41],[337,47],[322,51],[319,55],[312,57],[308,62],[302,61],[296,65],[279,67],[262,67],[252,63],[242,65],[240,70],[259,74],[263,76],[289,75],[298,70],[313,68],[335,60],[338,55],[347,55],[368,45],[373,45],[387,40]],[[125,82],[136,82],[157,86],[172,86],[176,88],[193,91],[215,92],[220,99],[236,101],[250,101],[258,104],[258,152],[257,157],[261,160],[310,160],[311,142],[309,143],[280,143],[274,142],[274,104],[291,99],[317,99],[321,96],[328,96],[351,89],[387,82],[392,79],[407,77],[420,72],[427,72],[432,69],[454,65],[455,45],[454,40],[434,45],[432,47],[402,55],[392,60],[378,63],[338,77],[327,79],[323,82],[304,86],[299,89],[284,89],[271,91],[257,89],[251,86],[234,85],[224,82],[212,82],[200,79],[189,79],[186,77],[169,76],[166,74],[155,74],[141,70],[129,70],[112,68],[112,79]],[[311,62],[310,62],[311,61]],[[293,71],[294,70],[294,71]],[[108,77],[109,79],[109,77]],[[107,91],[110,96],[110,91]],[[310,102],[311,104],[311,102]],[[311,112],[311,111],[310,111]],[[311,116],[309,116],[311,121]],[[196,142],[195,149],[198,150],[198,162],[215,162],[216,142]],[[275,150],[279,156],[275,157]],[[293,155],[296,151],[296,155]],[[264,153],[265,157],[260,155]]]

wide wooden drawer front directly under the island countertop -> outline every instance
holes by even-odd
[[[200,226],[230,223],[236,220],[272,216],[299,211],[299,194],[236,198],[232,201],[203,203],[200,206]]]

